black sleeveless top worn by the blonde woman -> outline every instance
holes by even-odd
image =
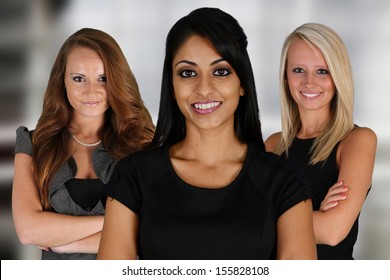
[[[323,164],[317,163],[309,165],[310,149],[315,138],[312,139],[298,139],[295,138],[292,142],[289,153],[289,159],[293,160],[299,166],[303,167],[309,179],[309,186],[313,194],[313,210],[319,210],[322,200],[328,193],[328,190],[338,180],[339,170],[337,168],[337,148],[339,143],[333,148],[332,153]],[[285,157],[285,154],[283,154]],[[351,231],[347,237],[336,246],[317,245],[318,259],[322,260],[351,260],[353,259],[353,246],[356,243],[358,235],[358,220],[356,218]]]

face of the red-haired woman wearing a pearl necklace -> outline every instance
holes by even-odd
[[[74,48],[67,59],[65,87],[76,118],[104,116],[109,107],[107,80],[100,56],[86,47]]]

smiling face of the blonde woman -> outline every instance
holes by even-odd
[[[287,81],[300,112],[330,109],[336,87],[322,52],[295,39],[287,52]]]

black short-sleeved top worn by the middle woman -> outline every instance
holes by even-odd
[[[177,176],[163,148],[121,160],[107,189],[140,218],[140,259],[274,259],[277,219],[309,198],[305,179],[250,144],[231,184],[199,188]]]

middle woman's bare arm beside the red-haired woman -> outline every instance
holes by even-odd
[[[106,218],[97,259],[136,259],[138,228],[139,219],[133,211],[119,201],[107,198]]]

